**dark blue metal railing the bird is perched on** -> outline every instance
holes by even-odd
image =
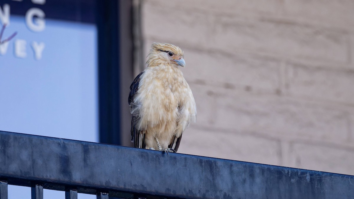
[[[226,153],[226,152],[225,152]],[[229,153],[229,152],[228,152]],[[7,184],[137,198],[354,198],[354,176],[0,131]]]

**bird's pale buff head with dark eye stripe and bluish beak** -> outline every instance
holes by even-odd
[[[148,54],[148,66],[179,65],[184,67],[183,51],[175,45],[167,43],[153,43]]]

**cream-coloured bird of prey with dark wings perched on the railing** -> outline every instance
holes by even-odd
[[[147,68],[130,85],[131,142],[134,147],[177,152],[182,134],[196,121],[196,104],[181,67],[183,50],[154,42]]]

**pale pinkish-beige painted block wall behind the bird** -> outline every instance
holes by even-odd
[[[179,153],[354,175],[354,1],[145,0],[184,50],[197,122]]]

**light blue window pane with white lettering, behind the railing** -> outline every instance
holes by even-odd
[[[98,142],[94,9],[93,1],[0,0],[2,38],[17,32],[0,45],[0,130]],[[9,198],[25,192],[9,186]]]

